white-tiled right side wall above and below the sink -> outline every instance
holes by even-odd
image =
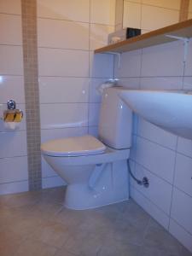
[[[192,90],[192,40],[183,54],[181,41],[127,52],[115,76],[131,89]],[[192,251],[192,142],[135,116],[131,169],[149,179],[148,189],[131,180],[131,197]]]

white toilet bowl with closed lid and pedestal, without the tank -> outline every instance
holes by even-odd
[[[83,210],[128,199],[130,149],[106,147],[90,135],[49,141],[41,149],[49,166],[67,182],[67,208]]]

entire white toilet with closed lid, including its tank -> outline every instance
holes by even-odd
[[[41,146],[47,163],[67,182],[64,205],[83,210],[129,198],[127,159],[132,113],[119,98],[121,87],[103,90],[99,140],[90,135],[52,140]]]

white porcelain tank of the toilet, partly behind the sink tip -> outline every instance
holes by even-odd
[[[99,138],[111,148],[131,148],[132,112],[119,98],[122,87],[103,90]]]

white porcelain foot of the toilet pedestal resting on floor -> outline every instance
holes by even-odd
[[[92,189],[89,183],[67,185],[64,205],[74,210],[102,207],[129,199],[129,183],[126,160],[108,164]]]

